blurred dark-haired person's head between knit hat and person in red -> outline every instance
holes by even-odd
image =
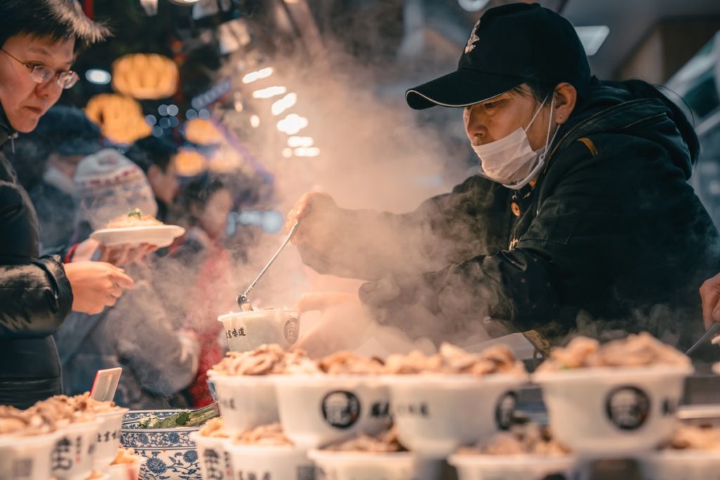
[[[143,169],[158,203],[156,218],[165,223],[178,194],[175,166],[176,145],[165,137],[144,137],[132,144],[125,156]]]

